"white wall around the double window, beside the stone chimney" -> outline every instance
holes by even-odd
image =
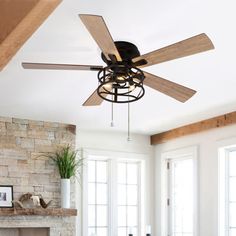
[[[116,155],[117,153],[143,154],[146,157],[146,222],[154,227],[154,148],[150,145],[150,137],[144,135],[131,135],[132,141],[128,142],[126,133],[81,130],[77,132],[76,137],[78,148],[114,152]],[[78,193],[78,198],[80,198],[79,195],[80,194]],[[82,210],[81,206],[79,206],[79,209],[80,211]],[[79,213],[79,216],[81,215],[82,213]],[[79,224],[81,224],[81,222],[79,222]]]

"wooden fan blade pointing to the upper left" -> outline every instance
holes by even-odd
[[[122,61],[102,16],[80,14],[79,17],[102,50],[105,57],[110,60],[109,54],[115,55],[117,61]]]

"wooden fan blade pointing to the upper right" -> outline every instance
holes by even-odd
[[[156,51],[134,58],[135,63],[140,60],[146,60],[148,63],[140,67],[151,66],[165,61],[174,60],[181,57],[190,56],[196,53],[214,49],[214,45],[206,34],[199,34],[185,39],[170,46],[158,49]]]

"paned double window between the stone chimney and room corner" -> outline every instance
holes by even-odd
[[[83,187],[83,235],[141,235],[142,163],[89,156]]]

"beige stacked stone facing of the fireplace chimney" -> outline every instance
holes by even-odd
[[[55,164],[43,155],[66,144],[75,146],[74,125],[0,117],[0,185],[13,185],[14,199],[31,192],[42,194],[46,201],[53,199],[52,207],[60,207],[60,176]],[[71,187],[73,207],[74,185]],[[13,218],[7,218],[0,219],[0,225],[13,227],[14,222],[10,220]],[[25,217],[14,218],[17,225],[21,222],[27,226],[27,221],[31,222],[30,227],[35,221],[34,216],[27,216],[26,222]],[[45,223],[53,225],[53,221],[55,217]],[[63,227],[68,232],[65,235],[75,235],[73,222],[65,219],[60,223],[56,219],[55,223],[58,228],[59,224],[68,225],[68,228]]]

